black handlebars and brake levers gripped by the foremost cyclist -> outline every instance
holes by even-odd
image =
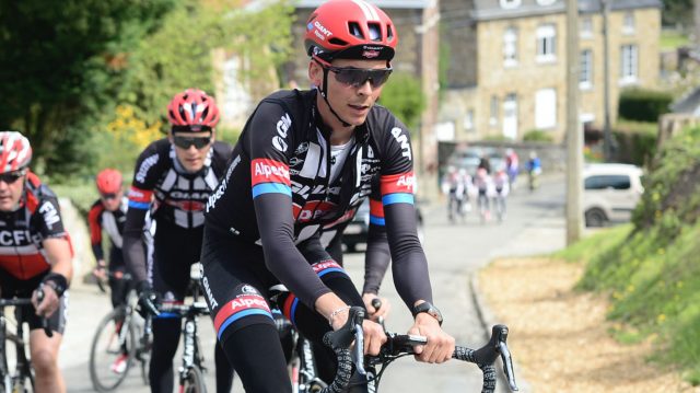
[[[387,332],[387,342],[382,346],[377,356],[363,356],[363,332],[362,320],[364,319],[364,310],[353,307],[350,309],[348,322],[338,331],[326,333],[324,344],[334,349],[338,358],[338,368],[336,378],[327,388],[319,393],[340,393],[346,389],[358,385],[366,392],[377,392],[382,374],[389,363],[394,360],[415,355],[413,347],[425,345],[427,339],[416,335],[400,335]],[[495,390],[495,359],[501,357],[503,361],[503,372],[505,373],[509,386],[512,391],[517,391],[515,374],[513,372],[513,361],[510,350],[508,349],[508,327],[505,325],[495,325],[491,331],[491,338],[479,349],[470,349],[457,346],[453,354],[453,359],[476,363],[483,373],[482,393],[493,393]],[[354,347],[350,350],[351,344]],[[354,360],[353,360],[354,359]],[[359,359],[359,360],[357,360]],[[353,370],[364,375],[365,381],[361,383],[350,383],[350,377]],[[360,384],[366,386],[360,386]]]

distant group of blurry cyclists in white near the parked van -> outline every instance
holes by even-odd
[[[535,151],[529,152],[523,170],[527,173],[527,187],[534,192],[539,185],[541,161]],[[492,211],[499,222],[506,217],[506,199],[517,187],[517,176],[521,172],[517,153],[509,148],[505,150],[502,164],[492,167],[489,158],[481,153],[479,164],[470,173],[467,167],[448,165],[442,180],[441,189],[447,198],[447,219],[450,222],[464,222],[467,215],[476,211],[481,223],[491,220]]]

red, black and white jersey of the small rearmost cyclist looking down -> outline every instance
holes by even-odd
[[[102,231],[104,230],[109,236],[112,246],[121,250],[124,243],[122,233],[124,224],[127,221],[127,207],[129,200],[122,197],[119,203],[119,208],[115,211],[105,209],[102,199],[97,199],[90,211],[88,212],[88,223],[90,226],[90,243],[92,245],[92,253],[95,255],[95,259],[101,261],[105,258],[105,253],[102,250]]]

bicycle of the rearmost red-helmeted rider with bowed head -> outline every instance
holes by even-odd
[[[130,276],[122,278],[129,280]],[[90,379],[97,392],[117,389],[135,366],[143,383],[149,383],[151,322],[139,315],[137,303],[138,296],[130,290],[126,303],[113,309],[97,325],[90,349]]]

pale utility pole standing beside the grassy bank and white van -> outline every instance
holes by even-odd
[[[606,61],[607,62],[607,61]],[[579,0],[567,0],[567,244],[583,232],[583,130],[579,119]]]

